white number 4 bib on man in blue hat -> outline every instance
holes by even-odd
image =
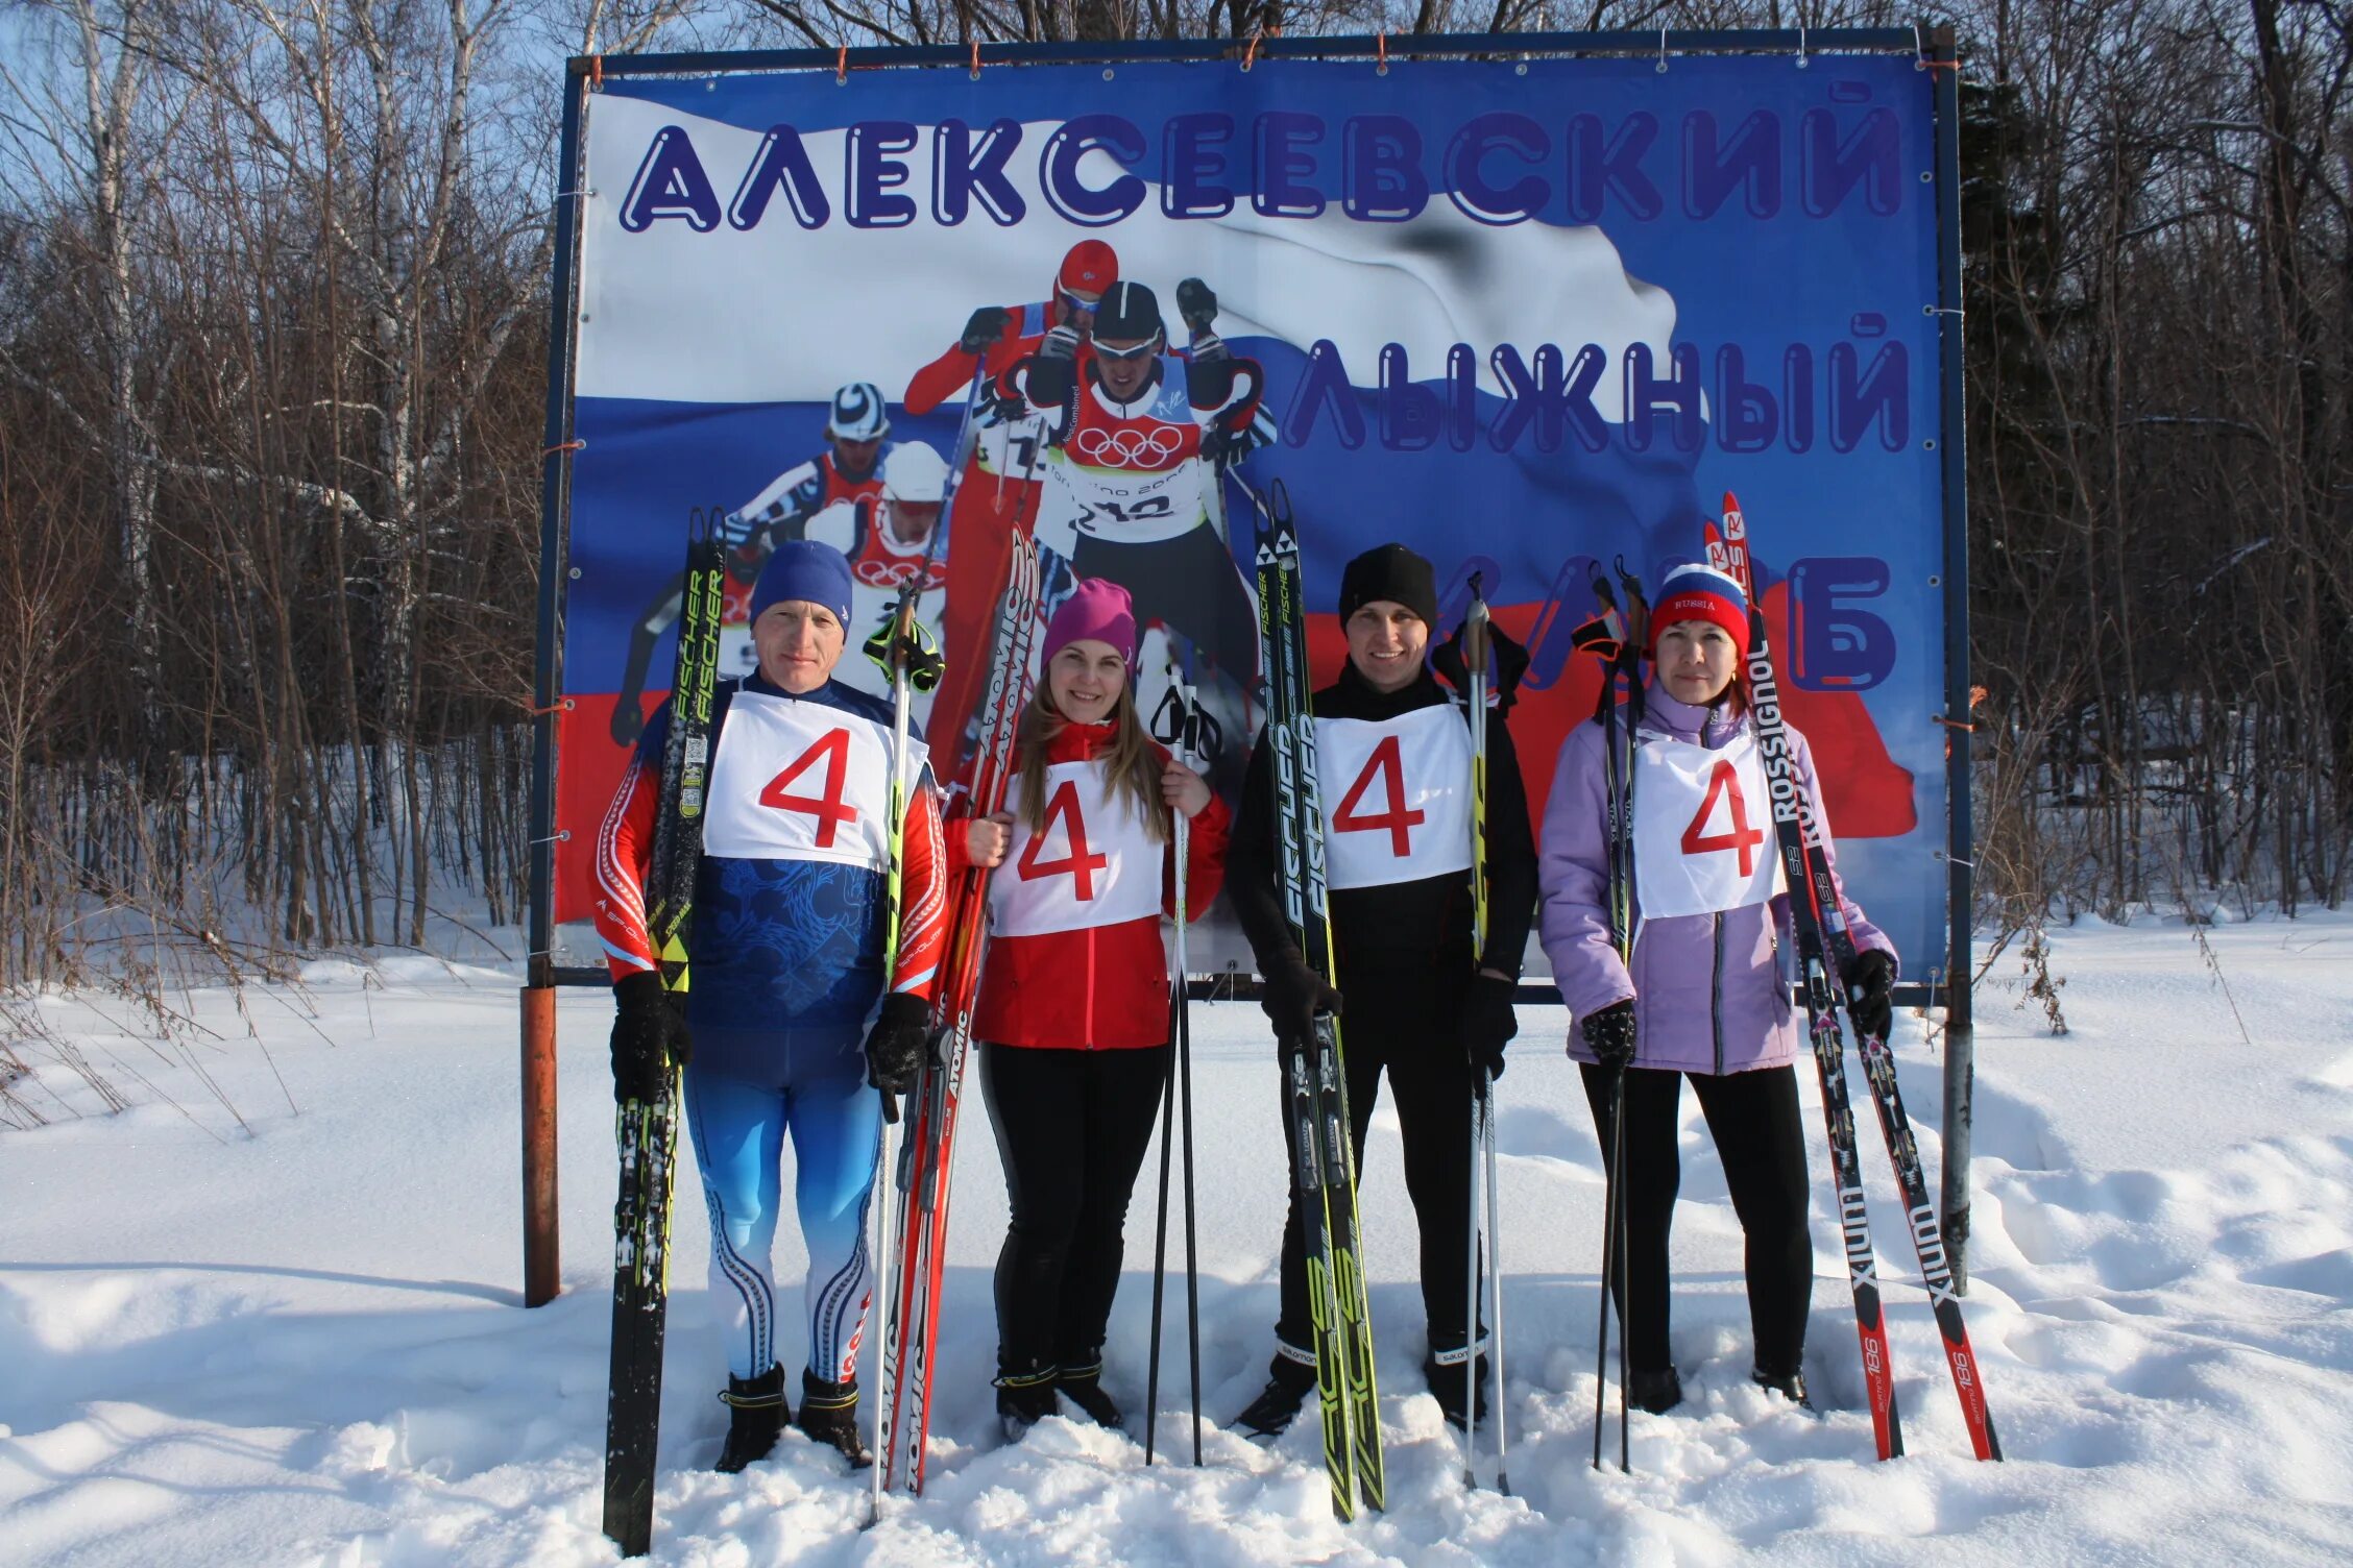
[[[908,792],[925,748],[908,738]],[[711,759],[704,853],[889,870],[889,731],[826,703],[739,691]]]

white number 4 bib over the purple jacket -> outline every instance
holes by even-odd
[[[1741,910],[1781,891],[1755,736],[1713,752],[1661,736],[1635,748],[1633,884],[1645,919]]]

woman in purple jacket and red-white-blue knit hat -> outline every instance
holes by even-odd
[[[1612,1281],[1633,1371],[1626,1399],[1652,1413],[1682,1401],[1668,1354],[1666,1234],[1675,1211],[1682,1079],[1692,1079],[1746,1237],[1751,1378],[1805,1396],[1805,1316],[1814,1291],[1798,1023],[1779,961],[1788,893],[1772,804],[1748,724],[1748,602],[1708,567],[1678,567],[1652,611],[1652,679],[1633,731],[1633,954],[1609,931],[1609,830],[1602,726],[1560,748],[1544,811],[1541,936],[1579,1020],[1569,1056],[1605,1147],[1624,1072],[1626,1265]],[[1814,755],[1788,731],[1817,823],[1828,823]],[[1833,884],[1835,851],[1824,832]],[[1857,959],[1842,976],[1854,1020],[1885,1034],[1894,947],[1838,891]],[[1628,1312],[1628,1286],[1633,1309]]]

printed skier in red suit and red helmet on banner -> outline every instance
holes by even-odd
[[[939,628],[941,646],[955,654],[932,696],[929,733],[944,778],[962,778],[960,752],[972,708],[988,672],[967,656],[988,646],[986,609],[1005,581],[1005,562],[1016,524],[1035,510],[1040,421],[1021,409],[998,409],[988,388],[1007,369],[1045,343],[1047,331],[1085,341],[1094,331],[1094,308],[1120,280],[1120,256],[1101,240],[1073,244],[1047,299],[1026,306],[981,306],[955,343],[908,378],[901,397],[908,414],[929,414],[953,397],[967,397],[969,451],[953,454],[955,505],[948,517],[948,604]]]

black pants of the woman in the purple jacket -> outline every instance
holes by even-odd
[[[1609,1159],[1609,1074],[1584,1067],[1593,1128]],[[1807,1234],[1805,1124],[1798,1119],[1798,1070],[1706,1072],[1626,1070],[1626,1262],[1612,1279],[1626,1354],[1638,1373],[1673,1366],[1666,1347],[1666,1234],[1675,1222],[1682,1161],[1675,1131],[1682,1079],[1692,1079],[1708,1135],[1725,1161],[1732,1213],[1741,1220],[1748,1272],[1748,1331],[1755,1363],[1793,1373],[1805,1354],[1805,1314],[1814,1295],[1814,1241]],[[1626,1281],[1633,1279],[1633,1309]]]

